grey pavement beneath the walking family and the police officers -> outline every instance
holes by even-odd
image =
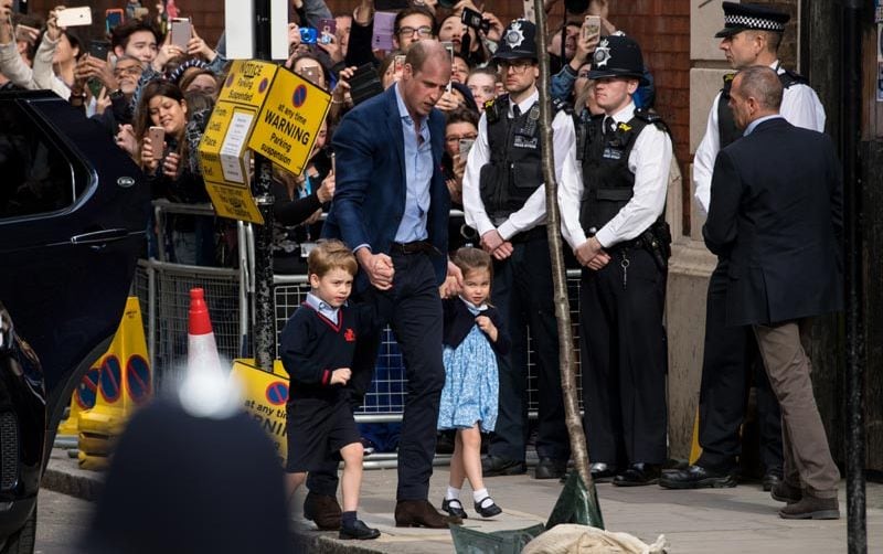
[[[370,458],[369,458],[370,460]],[[436,467],[430,500],[440,504],[447,486],[446,467]],[[556,480],[538,481],[524,476],[486,479],[488,490],[503,513],[481,520],[465,501],[469,519],[465,525],[481,531],[528,528],[544,523],[562,486]],[[56,448],[46,470],[44,488],[84,499],[94,499],[102,486],[102,475],[81,470],[75,458]],[[364,472],[359,515],[383,533],[375,541],[339,541],[337,533],[319,532],[312,524],[292,514],[292,524],[301,531],[307,552],[333,553],[427,553],[454,551],[446,530],[397,529],[395,510],[395,469]],[[757,483],[733,489],[672,491],[659,487],[619,488],[598,484],[602,512],[609,531],[627,532],[647,543],[664,534],[668,552],[688,553],[839,553],[847,552],[845,483],[840,488],[841,519],[837,521],[783,520],[783,505],[763,492]],[[471,492],[464,490],[464,498]],[[302,493],[301,493],[302,499]],[[296,500],[296,504],[301,502]],[[868,483],[868,552],[883,552],[883,484]]]

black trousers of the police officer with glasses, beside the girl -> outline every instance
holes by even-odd
[[[523,460],[528,439],[528,334],[538,376],[539,429],[536,454],[543,458],[571,457],[564,401],[561,393],[558,331],[553,303],[549,242],[536,238],[513,243],[512,255],[493,265],[491,301],[509,326],[512,349],[498,356],[500,403],[497,427],[488,452]]]

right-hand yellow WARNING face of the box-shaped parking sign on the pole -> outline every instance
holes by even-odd
[[[300,75],[279,70],[264,100],[248,148],[291,173],[309,161],[331,95]]]

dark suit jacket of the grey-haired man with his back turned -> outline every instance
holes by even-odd
[[[842,199],[831,140],[783,118],[717,153],[702,234],[728,259],[728,326],[843,308]]]

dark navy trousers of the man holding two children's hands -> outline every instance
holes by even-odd
[[[407,379],[407,397],[398,441],[397,500],[426,500],[433,475],[438,403],[445,385],[442,363],[442,299],[429,256],[425,253],[392,254],[393,288],[364,292],[360,300],[372,302],[377,313],[375,332],[359,339],[353,362],[353,408],[361,403],[377,359],[380,335],[386,323],[402,351]],[[334,496],[337,461],[309,475],[312,492]]]

